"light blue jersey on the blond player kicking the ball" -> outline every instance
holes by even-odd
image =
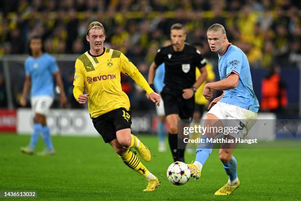
[[[241,49],[229,44],[225,52],[218,55],[218,70],[221,80],[227,78],[231,73],[240,76],[238,86],[225,90],[220,101],[258,112],[259,102],[253,91],[249,62]]]

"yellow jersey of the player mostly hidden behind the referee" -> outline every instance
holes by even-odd
[[[207,80],[209,80],[209,81],[214,80],[215,79],[215,74],[213,72],[213,67],[208,61],[207,61],[207,65],[206,65],[206,70],[207,70],[207,73],[208,73]],[[198,79],[199,76],[201,76],[201,72],[200,72],[199,68],[196,68],[195,76],[196,76],[196,79]],[[195,102],[197,104],[207,104],[207,102],[208,102],[208,100],[205,99],[205,97],[203,96],[203,89],[204,89],[204,86],[205,86],[206,83],[207,83],[207,81],[203,82],[203,84],[201,84],[201,86],[195,92],[194,97],[195,97]]]

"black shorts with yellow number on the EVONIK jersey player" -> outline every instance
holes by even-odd
[[[96,131],[102,136],[105,143],[116,139],[116,132],[122,129],[130,129],[132,112],[123,107],[109,111],[103,115],[92,118]]]

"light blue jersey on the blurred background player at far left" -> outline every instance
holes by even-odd
[[[58,70],[55,58],[47,53],[43,53],[38,58],[28,57],[25,61],[25,72],[31,77],[31,97],[53,97],[53,74]]]

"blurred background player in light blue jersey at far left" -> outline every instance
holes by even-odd
[[[34,113],[33,131],[30,145],[21,147],[25,154],[33,154],[39,135],[42,134],[46,149],[38,155],[54,155],[50,129],[46,124],[46,115],[54,99],[54,77],[60,87],[60,105],[66,103],[66,95],[62,84],[60,70],[54,57],[43,52],[42,39],[33,36],[29,42],[30,57],[25,61],[25,83],[20,104],[26,106],[26,96],[29,92],[31,108]]]

